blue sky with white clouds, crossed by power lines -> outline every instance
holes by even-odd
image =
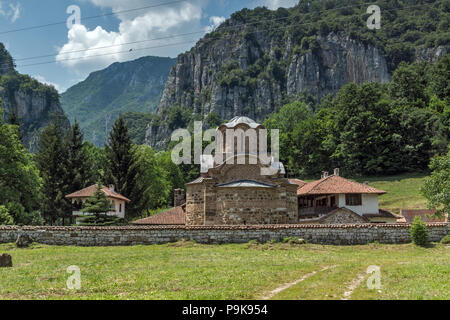
[[[189,50],[208,30],[242,8],[264,5],[276,9],[293,6],[298,1],[175,2],[176,0],[0,0],[0,42],[5,44],[16,59],[19,72],[53,84],[62,93],[84,80],[90,72],[117,61],[147,55],[176,57]],[[80,8],[81,21],[80,24],[72,24],[69,29],[66,20],[71,16],[67,13],[71,5]],[[159,6],[123,12],[152,5]],[[122,13],[85,19],[112,12]],[[56,22],[61,23],[10,32]],[[172,37],[194,32],[195,34],[183,37]],[[134,43],[128,44],[130,42]],[[53,56],[26,59],[41,55]],[[37,63],[44,64],[36,65]]]

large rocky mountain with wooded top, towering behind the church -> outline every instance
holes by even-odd
[[[379,30],[367,27],[373,4]],[[400,62],[449,51],[449,12],[443,0],[310,0],[236,12],[178,56],[146,142],[161,148],[175,128],[210,115],[262,122],[299,96],[320,100],[348,82],[387,82]]]

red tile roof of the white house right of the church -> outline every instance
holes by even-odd
[[[386,191],[353,182],[340,176],[331,175],[317,181],[307,183],[297,190],[298,195],[340,194],[340,193],[374,193],[384,194]]]

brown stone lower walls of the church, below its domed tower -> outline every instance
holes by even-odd
[[[236,159],[234,159],[236,160]],[[186,185],[186,225],[294,224],[298,222],[297,189],[288,179],[261,175],[261,163],[223,164],[195,183]],[[252,180],[273,187],[221,187]]]

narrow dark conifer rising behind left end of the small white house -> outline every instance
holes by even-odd
[[[70,132],[66,136],[67,145],[67,191],[73,193],[86,188],[90,182],[89,160],[86,150],[83,148],[83,133],[75,120]],[[72,224],[72,214],[69,212],[70,223]]]

